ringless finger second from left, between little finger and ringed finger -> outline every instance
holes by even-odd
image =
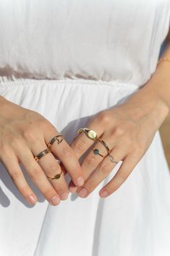
[[[24,147],[24,150],[18,150],[17,157],[23,164],[27,174],[32,179],[32,182],[37,186],[42,195],[50,202],[51,205],[58,205],[61,201],[58,193],[48,181],[45,172],[42,171],[39,163],[35,161],[34,156],[29,148]]]

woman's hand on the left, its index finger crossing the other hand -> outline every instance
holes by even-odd
[[[51,148],[53,153],[35,161],[34,156],[45,150],[49,140],[58,135],[50,121],[1,96],[0,107],[0,161],[27,202],[35,205],[37,197],[24,179],[19,163],[22,163],[32,182],[51,205],[58,205],[68,197],[68,185],[63,173],[60,179],[47,178],[61,173],[61,166],[54,155],[61,160],[76,186],[84,184],[79,161],[66,140],[59,145],[54,142]]]

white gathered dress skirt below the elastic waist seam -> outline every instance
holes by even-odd
[[[120,104],[136,85],[102,80],[3,80],[0,95],[45,116],[70,143],[95,114]],[[69,194],[52,206],[28,205],[0,164],[1,256],[169,256],[170,176],[159,132],[122,186],[107,198]],[[68,181],[68,177],[66,177]]]

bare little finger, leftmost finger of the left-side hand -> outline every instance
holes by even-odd
[[[4,157],[1,156],[1,160],[12,178],[12,182],[14,182],[22,197],[24,197],[30,205],[35,205],[37,197],[24,178],[17,156],[11,152],[10,157],[4,155]]]

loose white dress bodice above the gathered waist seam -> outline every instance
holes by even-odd
[[[143,85],[169,30],[169,0],[0,0],[0,76]]]

